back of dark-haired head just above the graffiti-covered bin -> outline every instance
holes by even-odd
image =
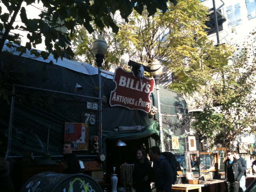
[[[81,167],[77,156],[73,153],[64,154],[62,158],[63,172],[67,174],[81,173]]]

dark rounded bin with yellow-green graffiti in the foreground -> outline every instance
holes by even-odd
[[[41,172],[24,184],[20,192],[102,192],[94,178],[86,174]]]

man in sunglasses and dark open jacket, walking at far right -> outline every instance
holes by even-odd
[[[226,155],[225,176],[228,184],[228,192],[238,192],[239,181],[244,174],[242,164],[238,160],[234,159],[234,152],[232,150],[227,150]]]

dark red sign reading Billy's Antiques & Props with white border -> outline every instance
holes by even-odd
[[[128,109],[150,111],[150,93],[154,89],[153,78],[143,77],[142,82],[137,79],[133,72],[128,72],[122,68],[116,68],[114,80],[116,89],[110,94],[110,106],[123,106]]]

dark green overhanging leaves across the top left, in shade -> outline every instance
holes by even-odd
[[[8,24],[10,14],[22,2],[23,0],[2,0],[9,13],[1,13],[0,31],[3,31],[4,28],[14,29],[12,24]],[[26,5],[30,5],[35,0],[24,0],[24,2],[26,2]],[[106,27],[112,28],[112,31],[117,34],[119,27],[114,17],[116,11],[119,11],[120,16],[128,22],[128,17],[134,9],[139,14],[142,14],[144,6],[146,6],[149,16],[154,15],[157,8],[162,10],[163,13],[167,10],[166,0],[38,0],[38,2],[42,2],[47,10],[39,14],[40,19],[29,19],[26,15],[26,7],[22,7],[20,9],[20,18],[24,25],[16,26],[15,28],[28,32],[30,42],[26,43],[26,47],[29,50],[41,43],[42,36],[44,36],[48,52],[54,51],[56,58],[61,56],[60,49],[68,50],[71,55],[74,54],[69,46],[68,35],[73,36],[77,26],[84,26],[90,34],[96,28],[104,30]],[[175,1],[171,0],[170,2]],[[13,18],[15,18],[15,15]],[[12,40],[13,38],[8,36],[6,39]],[[1,41],[4,42],[6,39],[1,39]],[[56,46],[53,48],[52,44],[57,44],[58,48]]]

